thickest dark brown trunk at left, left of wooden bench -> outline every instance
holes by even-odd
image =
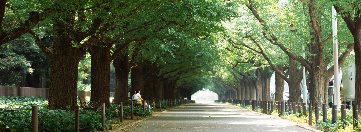
[[[54,38],[47,56],[50,61],[49,103],[47,109],[75,110],[77,106],[78,65],[86,53],[73,47],[71,40],[59,36]],[[61,41],[56,41],[61,40]]]

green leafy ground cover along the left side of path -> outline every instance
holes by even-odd
[[[19,110],[31,109],[31,106],[38,105],[39,111],[53,118],[63,118],[72,112],[68,110],[48,110],[48,101],[42,97],[10,97],[0,96],[1,110]],[[109,110],[116,110],[118,104],[110,104]],[[82,110],[86,113],[93,113],[92,110]],[[79,129],[81,131],[103,131],[104,129],[112,129],[110,119],[120,117],[120,109],[115,112],[105,110],[105,125],[103,126],[101,119],[101,111],[94,114],[79,113]],[[130,106],[123,106],[123,117],[128,118],[131,114]],[[145,110],[140,107],[134,108],[134,114],[138,116],[152,115],[152,110]],[[23,131],[32,130],[32,113],[31,110],[20,111],[1,111],[0,112],[0,132],[6,131]],[[74,131],[75,114],[71,114],[64,119],[51,119],[38,113],[38,131]],[[116,121],[120,121],[116,119]]]

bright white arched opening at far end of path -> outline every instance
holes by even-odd
[[[218,100],[218,95],[208,89],[203,89],[192,95],[192,100],[196,103],[214,103],[214,100]]]

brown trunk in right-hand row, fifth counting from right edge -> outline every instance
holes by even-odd
[[[272,72],[268,73],[266,70],[260,70],[262,79],[262,101],[270,101],[270,82]]]

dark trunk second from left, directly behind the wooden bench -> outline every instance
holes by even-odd
[[[104,43],[98,43],[104,45]],[[90,101],[100,101],[109,107],[110,97],[110,47],[93,46],[91,55],[91,96]]]

